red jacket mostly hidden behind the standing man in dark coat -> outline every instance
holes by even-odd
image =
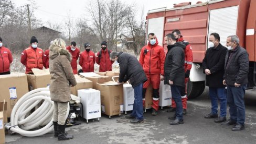
[[[177,40],[178,42],[184,42],[186,43],[187,41],[183,40],[182,35],[180,35],[180,38]],[[188,43],[188,42],[187,42]],[[186,44],[185,44],[186,45]],[[192,47],[188,43],[185,48],[185,64],[184,68],[185,71],[190,70],[193,64],[193,53],[192,53]]]

